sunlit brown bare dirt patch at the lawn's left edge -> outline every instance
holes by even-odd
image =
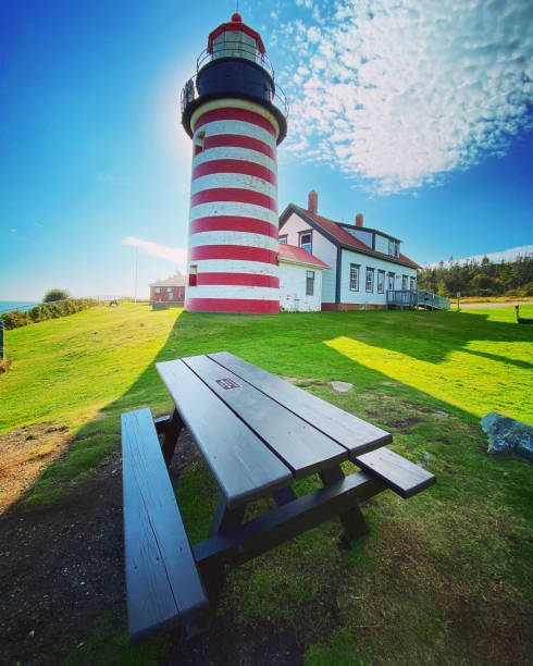
[[[62,427],[38,423],[0,436],[0,513],[16,502],[42,471],[65,451]]]

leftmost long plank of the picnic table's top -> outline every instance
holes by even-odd
[[[292,481],[290,470],[182,360],[156,367],[230,508]]]

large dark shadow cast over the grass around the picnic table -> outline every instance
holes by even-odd
[[[424,337],[426,326],[431,335]],[[22,613],[23,618],[22,622],[9,627],[12,648],[5,653],[8,658],[32,661],[36,654],[47,651],[50,654],[54,646],[59,655],[67,655],[77,663],[84,663],[84,655],[95,658],[96,653],[107,663],[108,658],[116,658],[116,650],[122,655],[119,661],[151,663],[153,653],[165,654],[170,649],[172,659],[183,663],[224,663],[224,659],[235,663],[243,658],[260,664],[268,663],[269,650],[283,650],[295,663],[301,659],[308,645],[321,636],[329,636],[339,622],[344,622],[347,630],[354,626],[352,616],[338,606],[337,590],[346,588],[346,576],[354,576],[354,571],[362,567],[363,572],[359,571],[358,576],[364,578],[368,569],[369,577],[377,575],[395,589],[395,571],[389,570],[387,558],[392,552],[401,550],[398,540],[406,536],[404,530],[412,530],[413,526],[420,528],[414,544],[418,544],[420,557],[417,567],[410,570],[414,577],[411,602],[420,607],[417,627],[424,627],[423,613],[432,604],[439,604],[439,613],[447,617],[453,628],[446,639],[438,636],[443,653],[451,649],[453,654],[457,654],[457,644],[467,653],[470,650],[468,640],[475,638],[476,650],[481,650],[476,658],[480,654],[507,655],[508,646],[504,641],[495,648],[489,639],[481,636],[487,621],[483,614],[479,614],[467,636],[461,634],[462,616],[446,607],[449,596],[441,592],[441,588],[450,577],[460,579],[464,588],[458,588],[455,593],[464,595],[468,608],[473,608],[474,602],[483,605],[480,595],[484,584],[494,593],[495,576],[498,584],[521,588],[531,595],[531,581],[528,583],[531,547],[525,533],[533,518],[529,491],[531,467],[519,460],[484,455],[484,437],[473,425],[475,417],[468,411],[400,381],[391,382],[388,374],[324,344],[339,336],[433,365],[443,363],[453,351],[468,351],[467,346],[472,341],[531,340],[531,334],[519,326],[511,330],[509,323],[487,321],[480,314],[343,312],[238,317],[183,313],[153,362],[224,349],[277,374],[300,378],[313,393],[340,408],[362,418],[372,415],[369,420],[393,432],[393,448],[436,473],[437,485],[407,504],[385,493],[383,499],[369,506],[373,528],[369,562],[350,564],[343,553],[332,547],[331,532],[335,528],[326,525],[319,528],[319,538],[317,532],[305,534],[296,540],[296,546],[287,544],[280,552],[272,552],[232,574],[223,600],[224,613],[218,616],[210,634],[186,646],[172,643],[169,648],[168,641],[158,640],[150,643],[145,653],[129,650],[124,639],[120,415],[144,406],[150,407],[153,416],[171,410],[172,402],[152,362],[122,396],[77,431],[62,459],[52,464],[42,479],[2,519],[8,527],[4,534],[10,536],[9,547],[26,555],[24,562],[16,563],[16,571],[10,571],[13,560],[2,563],[13,584],[10,585],[9,577],[4,577],[7,584],[1,597],[12,600],[11,590],[16,590],[14,601],[5,604],[3,616],[14,617],[18,613],[21,618]],[[492,354],[488,356],[489,360],[499,362],[497,355],[496,358]],[[350,381],[355,390],[346,395],[334,394],[324,385],[333,379]],[[107,454],[108,458],[101,462]],[[95,466],[96,471],[91,471]],[[182,508],[186,522],[189,521],[188,528],[197,532],[191,520],[209,522],[209,515],[199,516],[197,507],[193,506],[198,501],[206,471],[195,467],[188,479],[184,474],[184,484],[194,488],[190,474],[196,474],[196,494],[189,494]],[[73,480],[85,480],[85,483],[73,488]],[[212,484],[210,488],[213,494]],[[59,497],[61,494],[63,497]],[[53,503],[48,506],[50,501]],[[463,507],[460,515],[458,506]],[[495,533],[494,520],[498,513],[504,517],[504,525],[498,523],[499,533]],[[21,533],[21,519],[29,523],[27,532]],[[69,525],[72,529],[65,531]],[[507,556],[509,540],[513,544],[513,562],[503,564],[499,558]],[[48,548],[47,542],[51,544],[52,541],[53,548]],[[406,543],[411,542],[407,540]],[[306,547],[301,550],[298,544],[306,544]],[[406,552],[406,563],[409,557]],[[458,562],[462,569],[459,572],[456,570]],[[320,576],[317,576],[317,567]],[[474,572],[475,567],[478,572]],[[57,581],[64,581],[65,577],[67,582],[58,596],[54,594]],[[464,591],[468,585],[473,592]],[[95,591],[92,595],[85,594],[88,587]],[[399,608],[401,595],[396,602],[387,601],[385,585],[381,592],[383,599],[380,599],[377,587],[375,604],[397,603]],[[427,588],[435,592],[431,603]],[[312,590],[311,596],[309,590]],[[35,615],[27,609],[21,612],[17,595],[36,609]],[[44,601],[45,595],[48,601]],[[493,602],[497,603],[497,599]],[[73,606],[70,613],[65,613],[65,603]],[[512,606],[505,595],[501,608],[512,622]],[[265,613],[276,617],[278,625],[265,622]],[[50,627],[42,621],[45,616],[62,618],[62,626],[59,629]],[[433,617],[434,613],[427,616]],[[104,633],[109,641],[102,639],[100,629],[96,630],[102,617],[108,618]],[[34,624],[38,627],[37,640],[30,636]],[[280,626],[285,627],[283,632]],[[244,638],[235,638],[235,627],[239,627],[238,634]],[[405,620],[398,620],[396,629],[388,628],[385,638],[383,629],[376,630],[375,636],[370,630],[364,639],[370,641],[368,652],[380,651],[380,641],[384,641],[382,651],[394,650],[395,640],[402,630],[409,633]],[[352,631],[358,632],[357,629]],[[475,632],[479,636],[472,637]],[[61,638],[65,633],[71,638]],[[411,640],[422,643],[425,640],[434,648],[437,639],[434,633],[426,633],[430,638],[420,638],[424,633],[419,632],[418,639],[412,636]],[[113,645],[113,657],[108,652],[110,645]]]

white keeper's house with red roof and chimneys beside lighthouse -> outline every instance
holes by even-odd
[[[355,224],[334,222],[318,214],[318,194],[309,193],[307,209],[289,203],[280,217],[280,269],[284,266],[287,248],[302,249],[308,266],[300,266],[299,275],[290,279],[280,272],[280,305],[286,310],[351,310],[386,307],[386,292],[417,288],[420,266],[400,251],[401,240],[376,229],[363,225],[362,214]],[[318,262],[314,267],[310,262]],[[305,278],[303,278],[303,272]],[[315,289],[320,288],[321,307],[317,297],[307,300],[311,291],[309,276],[313,274]],[[290,282],[289,282],[290,280]],[[293,285],[298,284],[298,289]],[[287,295],[292,295],[287,299]],[[295,304],[295,299],[297,303]],[[311,307],[311,303],[312,306]]]

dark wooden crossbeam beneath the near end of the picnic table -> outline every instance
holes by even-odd
[[[241,527],[211,536],[193,547],[196,562],[207,579],[226,574],[252,557],[310,530],[324,520],[357,506],[386,490],[367,472],[356,472],[303,497],[272,509]]]

